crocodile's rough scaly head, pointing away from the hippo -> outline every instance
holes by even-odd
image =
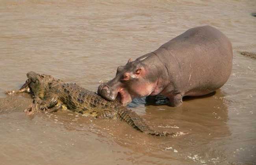
[[[28,80],[22,85],[20,91],[33,92],[35,96],[43,98],[45,91],[49,89],[54,78],[50,75],[38,74],[35,72],[27,73]]]

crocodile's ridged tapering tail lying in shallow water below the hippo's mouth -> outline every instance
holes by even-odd
[[[147,123],[139,115],[127,108],[118,109],[117,118],[121,121],[125,121],[126,123],[128,123],[128,125],[146,134],[154,136],[178,136],[179,134],[176,132],[169,133],[154,130],[150,126],[148,126]]]

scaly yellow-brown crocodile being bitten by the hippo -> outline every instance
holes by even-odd
[[[128,125],[154,136],[180,136],[179,132],[161,132],[148,126],[142,117],[121,105],[119,101],[107,101],[95,92],[86,90],[75,83],[64,83],[51,75],[27,73],[28,80],[19,91],[9,91],[7,94],[20,92],[34,96],[33,104],[27,112],[56,112],[63,106],[73,112],[88,114],[100,119],[120,119]]]

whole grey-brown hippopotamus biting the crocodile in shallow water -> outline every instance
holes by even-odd
[[[232,71],[230,40],[211,26],[191,28],[156,51],[119,66],[113,79],[100,84],[98,94],[122,105],[135,97],[164,95],[170,106],[184,96],[201,96],[221,88]]]

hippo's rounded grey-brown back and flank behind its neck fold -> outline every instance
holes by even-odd
[[[168,68],[170,81],[184,95],[203,95],[226,83],[232,70],[232,45],[211,26],[195,27],[154,51]]]

